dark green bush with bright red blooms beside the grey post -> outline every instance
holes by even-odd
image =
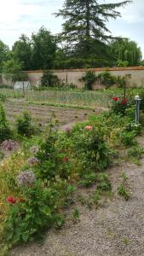
[[[129,106],[128,99],[118,98],[118,97],[112,98],[112,105],[111,105],[112,112],[124,115],[125,109],[128,108],[128,106]]]

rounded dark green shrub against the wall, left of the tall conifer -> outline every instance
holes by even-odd
[[[43,72],[43,77],[41,79],[41,84],[44,87],[55,87],[59,83],[59,79],[56,75],[51,73],[49,70]]]

